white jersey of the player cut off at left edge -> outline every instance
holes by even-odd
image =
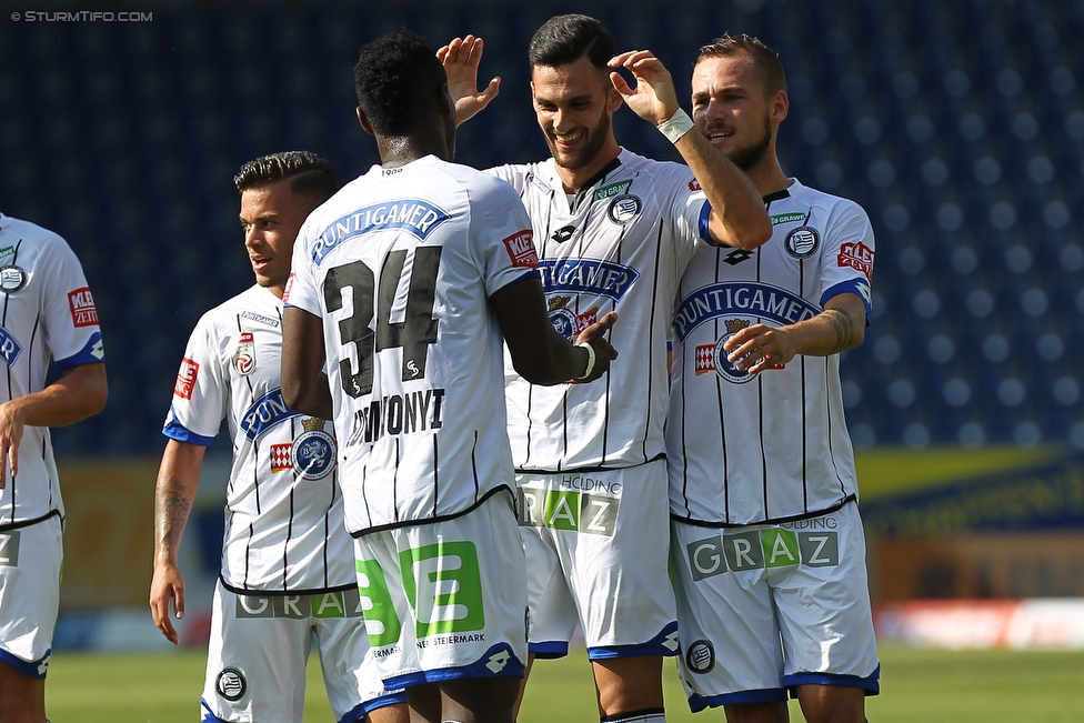
[[[62,370],[104,360],[98,311],[74,252],[52,231],[3,214],[0,357],[0,403],[44,389],[51,360]],[[63,516],[49,428],[23,428],[19,474],[6,469],[6,479],[0,530]]]

